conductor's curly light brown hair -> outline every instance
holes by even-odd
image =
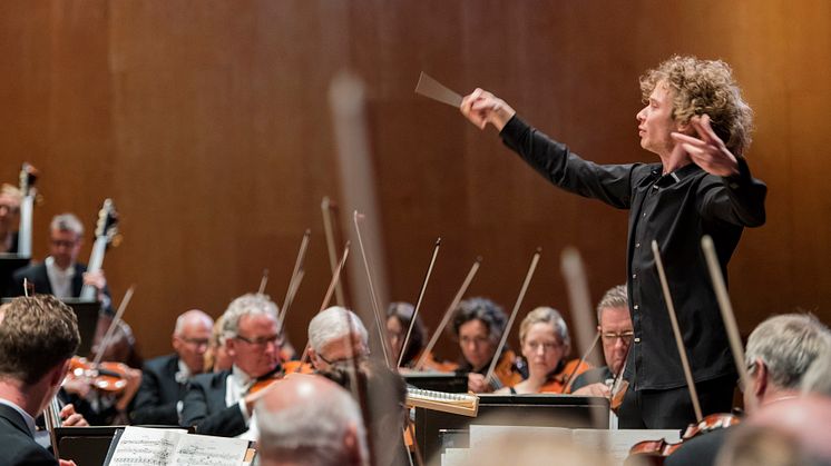
[[[694,116],[706,113],[731,152],[741,156],[750,147],[753,110],[742,99],[727,63],[674,56],[641,77],[644,102],[658,85],[674,91],[673,120],[683,125]]]

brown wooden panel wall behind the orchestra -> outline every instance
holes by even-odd
[[[329,279],[320,202],[341,197],[327,87],[349,68],[368,89],[391,296],[416,299],[441,236],[428,325],[477,255],[470,294],[509,310],[541,246],[525,309],[568,315],[559,251],[580,249],[598,298],[624,280],[625,212],[559,192],[492,130],[413,95],[419,71],[495,91],[586,158],[627,162],[654,160],[637,139],[639,73],[672,53],[722,58],[755,110],[747,157],[770,187],[768,224],[745,231],[731,262],[740,326],[795,308],[828,323],[830,10],[824,0],[1,2],[0,179],[16,180],[23,160],[42,171],[38,259],[52,215],[75,211],[91,230],[104,197],[116,200],[125,240],[105,269],[117,299],[137,285],[127,320],[145,356],[169,351],[180,311],[219,315],[263,268],[282,301],[312,228],[287,318],[302,345]],[[440,353],[453,356],[449,340]]]

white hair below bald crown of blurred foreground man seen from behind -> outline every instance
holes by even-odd
[[[291,459],[310,466],[349,465],[351,457],[343,439],[354,426],[359,448],[366,458],[366,434],[361,408],[344,389],[338,389],[314,403],[299,403],[278,412],[264,403],[254,407],[261,455]]]

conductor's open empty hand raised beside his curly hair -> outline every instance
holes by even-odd
[[[727,150],[724,141],[713,131],[710,126],[710,116],[693,117],[690,119],[690,125],[695,129],[698,138],[681,132],[673,132],[672,138],[683,147],[693,162],[704,171],[720,177],[739,173],[739,162]]]

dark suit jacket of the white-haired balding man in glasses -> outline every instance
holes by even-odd
[[[141,387],[136,394],[133,424],[179,425],[176,404],[185,396],[186,384],[176,381],[179,357],[159,356],[145,363]]]

